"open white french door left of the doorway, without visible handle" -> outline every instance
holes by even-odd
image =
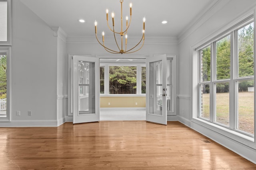
[[[73,123],[100,121],[100,61],[73,56]]]

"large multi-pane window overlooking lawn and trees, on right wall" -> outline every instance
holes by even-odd
[[[254,23],[241,22],[202,45],[199,56],[200,119],[254,135]]]

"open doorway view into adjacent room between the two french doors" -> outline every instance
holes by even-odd
[[[145,59],[100,59],[100,120],[146,120]]]

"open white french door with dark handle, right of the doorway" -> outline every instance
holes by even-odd
[[[146,121],[167,125],[166,55],[146,59]]]

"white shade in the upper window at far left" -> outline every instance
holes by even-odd
[[[7,41],[7,1],[0,1],[0,42]]]

